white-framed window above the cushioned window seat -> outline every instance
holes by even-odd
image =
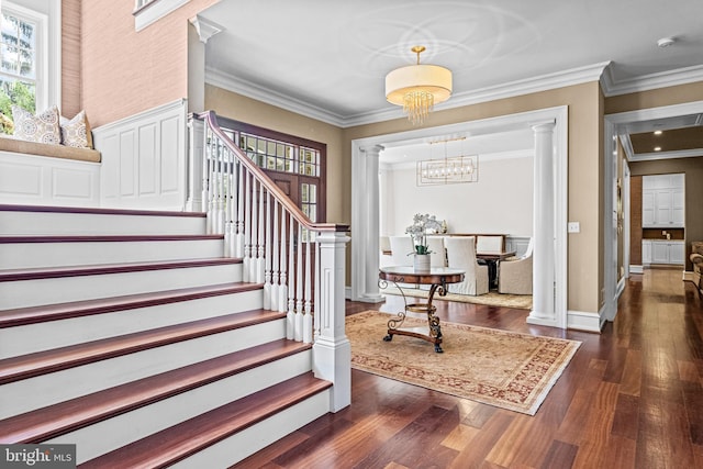
[[[60,104],[60,2],[1,5],[0,132],[12,133],[12,104],[30,112]]]

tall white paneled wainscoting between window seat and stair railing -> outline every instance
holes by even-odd
[[[179,99],[93,129],[102,154],[102,206],[183,210],[187,108]]]

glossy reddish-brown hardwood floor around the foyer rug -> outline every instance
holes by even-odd
[[[399,311],[398,298],[347,314]],[[703,308],[680,270],[632,276],[602,334],[527,312],[436,301],[443,321],[583,344],[534,416],[352,371],[352,405],[237,468],[703,467]]]

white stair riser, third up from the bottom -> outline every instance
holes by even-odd
[[[0,418],[286,337],[271,321],[136,351],[0,387]]]

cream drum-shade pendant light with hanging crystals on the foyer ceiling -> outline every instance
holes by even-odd
[[[421,125],[433,107],[451,96],[451,70],[437,65],[421,65],[420,54],[425,46],[411,49],[417,54],[417,63],[397,68],[386,76],[386,99],[403,107],[408,120]]]

